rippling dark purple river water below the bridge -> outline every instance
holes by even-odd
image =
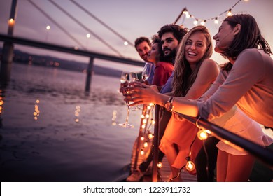
[[[123,181],[140,113],[135,128],[112,125],[126,116],[119,83],[94,75],[86,96],[85,73],[13,64],[0,94],[1,181]]]

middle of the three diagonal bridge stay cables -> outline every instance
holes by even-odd
[[[77,22],[78,25],[80,25],[80,27],[83,27],[83,29],[85,29],[86,31],[90,31],[90,33],[97,38],[99,41],[101,41],[102,43],[104,43],[104,45],[107,45],[111,50],[113,50],[114,52],[116,52],[120,57],[123,57],[123,55],[120,54],[120,52],[118,52],[118,50],[116,50],[115,48],[113,48],[109,43],[107,43],[106,41],[104,41],[103,38],[99,37],[97,34],[95,34],[91,29],[87,28],[85,25],[83,25],[83,23],[81,23],[79,20],[77,20],[76,18],[73,17],[73,15],[69,14],[66,10],[64,10],[61,6],[59,6],[57,3],[55,3],[52,0],[48,0],[50,1],[50,3],[52,3],[54,6],[56,6],[57,8],[59,8],[59,10],[62,10],[63,13],[65,13],[66,15],[69,16],[69,18],[71,18],[72,20],[74,20],[75,22]]]

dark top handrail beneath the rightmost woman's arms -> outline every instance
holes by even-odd
[[[196,125],[197,118],[186,116],[181,113],[179,113],[179,116]],[[244,148],[246,151],[248,151],[248,153],[251,153],[261,162],[265,163],[265,165],[267,165],[270,169],[273,169],[273,151],[269,148],[264,148],[263,146],[249,141],[248,139],[244,139],[243,137],[225,130],[223,127],[211,123],[204,118],[200,118],[198,120],[198,125],[200,127],[204,127],[206,130],[210,130],[212,136],[217,137],[218,139],[228,140],[232,144]]]

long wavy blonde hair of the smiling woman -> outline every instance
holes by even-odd
[[[185,57],[185,47],[186,47],[186,42],[188,41],[188,38],[195,34],[196,32],[200,32],[204,34],[204,36],[207,39],[207,50],[200,59],[199,62],[196,64],[196,69],[192,71],[190,69],[190,64],[188,63],[186,57]],[[208,59],[211,57],[213,52],[213,47],[211,43],[211,34],[209,34],[209,30],[207,27],[204,26],[196,26],[193,27],[193,29],[190,29],[188,31],[188,34],[183,37],[180,45],[179,45],[179,50],[177,51],[176,54],[176,59],[174,62],[174,80],[172,81],[172,93],[176,97],[184,97],[188,90],[190,90],[190,87],[193,85],[195,82],[195,79],[197,77],[197,73],[200,69],[200,66],[204,59]]]

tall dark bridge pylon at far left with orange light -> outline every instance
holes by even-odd
[[[8,35],[13,35],[13,27],[15,24],[17,0],[13,0],[10,9],[10,18],[8,19]],[[13,43],[6,41],[3,43],[3,52],[0,69],[0,82],[6,84],[10,80],[11,66],[13,62]]]

